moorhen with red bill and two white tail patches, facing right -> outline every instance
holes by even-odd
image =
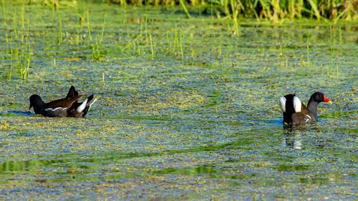
[[[283,112],[283,123],[285,124],[317,122],[317,105],[320,102],[332,103],[326,95],[321,92],[312,94],[307,103],[307,107],[296,97],[296,92],[281,97],[279,101]]]

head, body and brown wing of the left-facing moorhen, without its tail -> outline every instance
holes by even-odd
[[[30,96],[29,109],[33,107],[35,114],[40,114],[45,117],[67,117],[69,109],[72,108],[77,99],[82,96],[85,95],[77,95],[45,103],[40,96],[34,94]]]

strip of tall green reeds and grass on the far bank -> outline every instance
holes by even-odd
[[[81,0],[24,0],[28,3],[41,3],[50,7],[77,6]],[[13,2],[21,2],[19,0]],[[257,20],[315,18],[318,20],[358,19],[358,0],[97,0],[96,3],[134,6],[175,6],[180,5],[188,17],[191,8],[200,6],[200,14],[218,18],[233,19],[250,17]]]

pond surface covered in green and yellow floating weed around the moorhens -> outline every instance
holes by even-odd
[[[237,33],[200,8],[6,6],[0,199],[358,197],[358,23],[242,19]],[[29,112],[32,94],[71,85],[98,98],[86,118]],[[296,90],[333,104],[283,128],[278,99]]]

